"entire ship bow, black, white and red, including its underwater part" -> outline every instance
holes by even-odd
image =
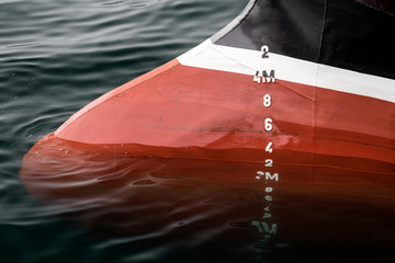
[[[158,208],[166,213],[187,190],[193,202],[206,191],[222,205],[258,207],[241,218],[261,243],[290,239],[273,229],[293,222],[270,208],[292,203],[286,196],[364,203],[390,215],[395,42],[385,28],[395,20],[386,11],[353,0],[251,1],[212,38],[41,139],[24,157],[21,178],[44,199],[116,196],[123,210],[169,195]],[[332,241],[351,232],[340,229]]]

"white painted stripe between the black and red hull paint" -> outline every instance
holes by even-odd
[[[207,39],[178,60],[184,66],[250,76],[257,70],[275,70],[280,80],[395,102],[395,80],[273,53],[269,56],[262,59],[260,52],[215,45]]]

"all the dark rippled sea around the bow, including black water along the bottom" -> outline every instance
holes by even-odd
[[[170,217],[165,227],[123,235],[102,224],[93,228],[70,219],[77,210],[84,215],[91,203],[86,207],[80,203],[78,208],[45,205],[25,190],[19,176],[22,158],[40,138],[101,94],[200,44],[236,18],[247,2],[0,1],[0,262],[395,262],[391,243],[359,249],[342,243],[341,236],[309,243],[316,235],[304,236],[298,227],[314,218],[302,213],[303,198],[292,203],[283,197],[286,202],[279,209],[283,218],[291,216],[285,220],[294,230],[291,238],[263,245],[260,232],[266,226],[238,216],[239,220],[229,218],[224,225],[216,208],[205,207],[204,214],[199,207],[200,213],[194,213],[178,204],[181,210],[190,209],[189,220]],[[321,221],[339,229],[348,215],[350,226],[369,226],[350,231],[360,240],[394,233],[393,210],[379,216],[375,208],[364,206],[356,218],[343,213],[349,205],[330,203],[332,218]],[[138,214],[134,220],[138,221]],[[174,230],[184,225],[190,227]]]

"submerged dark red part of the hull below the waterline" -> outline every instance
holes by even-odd
[[[25,156],[21,178],[44,203],[115,238],[103,248],[129,249],[131,259],[395,260],[392,165],[280,151],[287,162],[273,170],[262,151],[237,151],[91,146],[50,135]],[[314,164],[320,159],[326,167]]]

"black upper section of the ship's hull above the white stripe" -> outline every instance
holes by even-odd
[[[258,0],[215,44],[395,79],[395,16],[356,0]]]

